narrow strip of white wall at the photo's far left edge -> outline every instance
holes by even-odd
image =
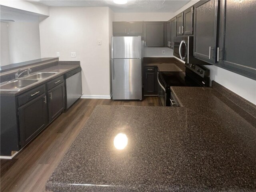
[[[0,66],[10,64],[9,60],[9,34],[8,34],[8,27],[7,23],[1,23],[0,26]]]

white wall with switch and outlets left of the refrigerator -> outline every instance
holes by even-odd
[[[109,12],[108,7],[50,7],[50,17],[39,25],[42,57],[60,52],[60,60],[80,61],[84,97],[110,98]]]

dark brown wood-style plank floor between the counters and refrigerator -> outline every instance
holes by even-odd
[[[0,191],[44,192],[45,184],[97,105],[160,106],[158,97],[143,101],[79,99],[12,160],[0,160]]]

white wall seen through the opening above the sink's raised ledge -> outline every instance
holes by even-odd
[[[39,22],[9,22],[10,63],[41,58]]]

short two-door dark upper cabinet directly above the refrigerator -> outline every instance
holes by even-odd
[[[113,22],[113,36],[142,36],[143,22]]]

